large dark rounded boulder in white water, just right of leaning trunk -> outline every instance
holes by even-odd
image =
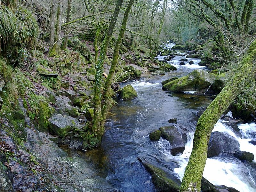
[[[239,151],[239,142],[232,136],[223,132],[212,132],[207,157],[219,156],[220,153]]]

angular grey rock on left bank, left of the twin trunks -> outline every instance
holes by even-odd
[[[77,119],[66,115],[57,114],[49,119],[50,132],[60,138],[65,137],[73,129],[81,129],[82,127]]]

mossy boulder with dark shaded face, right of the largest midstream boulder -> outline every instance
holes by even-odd
[[[221,73],[220,75],[216,76],[212,84],[212,90],[215,93],[220,93],[220,91],[226,86],[226,84],[232,78],[233,74],[234,74],[234,71],[227,71],[225,73]]]

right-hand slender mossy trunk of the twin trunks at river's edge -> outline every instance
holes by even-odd
[[[122,39],[124,37],[124,32],[125,32],[125,28],[126,28],[126,24],[127,24],[127,20],[129,17],[129,12],[132,8],[132,4],[134,3],[134,0],[129,0],[128,6],[124,12],[124,19],[122,22],[122,26],[118,35],[118,38],[116,40],[116,45],[115,45],[115,49],[114,49],[114,53],[113,53],[113,61],[108,73],[108,77],[107,80],[105,82],[105,86],[104,86],[104,92],[103,92],[103,97],[104,97],[104,102],[102,104],[102,121],[100,123],[101,126],[101,132],[104,132],[104,124],[108,115],[108,111],[109,109],[112,107],[112,102],[111,102],[111,84],[113,82],[113,77],[115,75],[115,70],[116,70],[116,66],[118,63],[118,52],[120,49],[120,45],[122,43]]]

